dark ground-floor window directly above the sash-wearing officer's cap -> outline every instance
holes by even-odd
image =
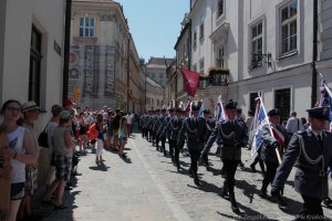
[[[290,113],[290,88],[274,91],[274,108],[281,112],[281,120],[287,120]]]

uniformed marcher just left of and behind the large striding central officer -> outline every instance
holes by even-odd
[[[187,135],[187,146],[191,160],[189,176],[194,178],[194,183],[198,187],[200,183],[197,176],[197,161],[204,148],[207,133],[205,118],[198,117],[199,108],[197,105],[191,106],[193,116],[185,119],[177,139],[177,144],[180,145],[185,139],[185,135]]]

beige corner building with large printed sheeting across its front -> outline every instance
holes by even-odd
[[[144,75],[122,6],[73,0],[71,30],[70,97],[94,108],[136,110],[144,104]]]

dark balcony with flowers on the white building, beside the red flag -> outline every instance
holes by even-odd
[[[199,90],[205,90],[209,86],[228,86],[229,70],[221,67],[210,67],[208,75],[200,75]]]

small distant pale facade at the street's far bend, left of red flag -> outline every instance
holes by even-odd
[[[166,90],[154,80],[146,77],[146,99],[145,110],[160,109],[168,106],[166,104]]]

